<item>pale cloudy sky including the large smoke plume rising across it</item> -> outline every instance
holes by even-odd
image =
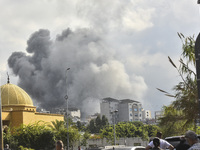
[[[22,87],[34,105],[100,111],[106,97],[132,99],[152,115],[173,99],[182,42],[196,37],[196,0],[1,0],[1,85]],[[67,70],[70,68],[70,70]]]

